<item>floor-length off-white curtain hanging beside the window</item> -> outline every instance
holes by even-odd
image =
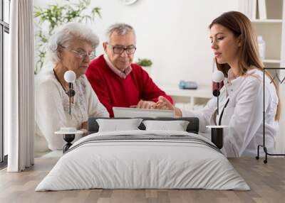
[[[33,0],[11,1],[9,67],[4,70],[9,172],[33,165]]]

